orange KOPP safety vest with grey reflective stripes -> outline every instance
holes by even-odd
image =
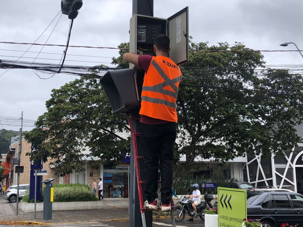
[[[180,68],[168,57],[152,57],[145,72],[140,115],[177,122],[176,99],[182,79]]]

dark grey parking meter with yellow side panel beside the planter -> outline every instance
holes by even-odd
[[[55,178],[42,181],[43,183],[43,220],[52,219],[52,202],[54,198],[54,188],[51,183]]]

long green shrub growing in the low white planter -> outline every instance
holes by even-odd
[[[78,202],[78,201],[97,201],[98,198],[92,192],[92,188],[84,184],[55,184],[54,202]],[[42,188],[43,198],[43,188]],[[25,192],[22,198],[23,202],[34,202],[29,200],[29,190]],[[40,201],[39,201],[40,202]],[[43,202],[43,201],[41,201]]]

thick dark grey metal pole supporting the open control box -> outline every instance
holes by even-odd
[[[132,1],[132,14],[141,14],[147,16],[154,15],[154,1],[153,0],[133,0]],[[137,72],[138,74],[138,72]],[[144,74],[142,75],[143,78]],[[140,117],[132,115],[132,118]],[[139,132],[139,120],[132,120],[132,125],[134,127],[135,133]],[[139,138],[137,140],[138,153],[142,153],[141,146],[139,144]],[[143,174],[143,173],[142,173]],[[135,169],[135,156],[134,147],[131,143],[131,164],[130,164],[130,198],[129,198],[129,226],[142,227],[142,215],[140,212],[139,194],[136,178]],[[144,193],[144,192],[143,192]],[[144,198],[145,196],[143,196]],[[145,212],[145,222],[146,227],[152,227],[152,212]]]

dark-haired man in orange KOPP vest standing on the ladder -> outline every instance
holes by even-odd
[[[161,211],[171,210],[173,150],[176,140],[176,99],[182,79],[180,68],[168,58],[170,40],[158,35],[154,40],[156,57],[126,53],[123,59],[145,71],[141,95],[140,141],[144,156],[144,206],[157,210],[158,163],[161,174]]]

